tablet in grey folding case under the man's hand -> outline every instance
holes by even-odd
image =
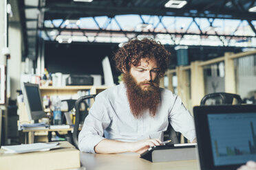
[[[195,146],[196,143],[154,146],[140,154],[140,158],[151,162],[195,160],[197,159]]]

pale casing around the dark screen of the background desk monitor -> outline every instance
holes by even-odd
[[[41,110],[39,110],[39,111],[32,111],[31,110],[30,101],[28,99],[26,86],[36,87],[37,90],[39,91]],[[44,108],[43,108],[43,101],[42,101],[42,97],[41,97],[41,91],[40,91],[40,88],[39,88],[39,84],[32,84],[32,83],[25,83],[24,82],[23,95],[24,95],[25,106],[26,106],[26,109],[27,109],[27,112],[28,112],[28,119],[30,121],[32,121],[32,120],[38,121],[39,119],[41,119],[43,117],[46,117],[46,114],[45,114],[45,111],[44,111]]]

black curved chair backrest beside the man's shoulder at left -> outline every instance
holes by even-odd
[[[85,102],[85,112],[86,112],[86,114],[88,114],[88,105],[86,104],[85,100],[86,99],[95,99],[95,97],[96,97],[96,95],[85,95],[85,96],[77,99],[75,102],[76,121],[74,124],[72,138],[73,138],[73,143],[76,146],[76,148],[78,148],[78,128],[79,128],[79,124],[81,122],[81,120],[80,120],[81,119],[81,110],[80,110],[81,103]]]

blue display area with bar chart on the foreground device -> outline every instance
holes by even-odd
[[[207,114],[213,164],[244,164],[256,158],[256,112]]]

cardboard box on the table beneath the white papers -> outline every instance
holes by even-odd
[[[4,154],[0,149],[0,169],[75,169],[80,165],[80,151],[67,141],[60,148],[26,154]]]

